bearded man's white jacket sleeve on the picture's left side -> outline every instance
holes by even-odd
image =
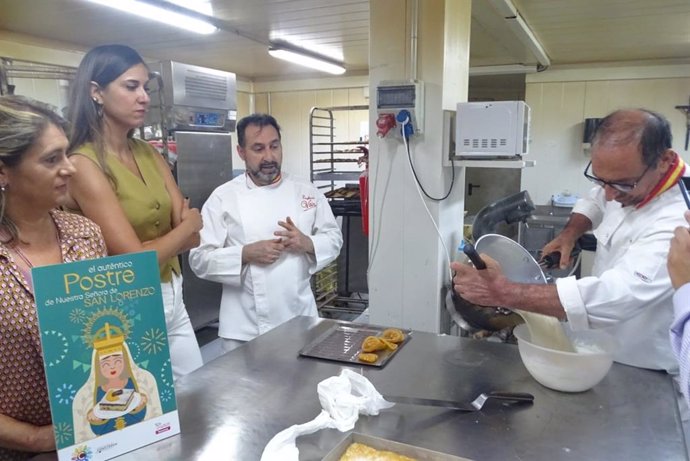
[[[219,194],[211,194],[201,209],[201,217],[204,222],[200,232],[201,243],[189,252],[189,266],[199,278],[240,286],[244,246],[226,246],[231,239],[228,238],[226,212]]]

